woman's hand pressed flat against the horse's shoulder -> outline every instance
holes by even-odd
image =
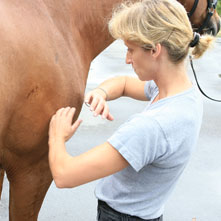
[[[75,110],[75,108],[70,107],[61,108],[51,118],[49,125],[49,142],[66,142],[73,136],[82,122],[82,120],[76,120],[72,124]]]

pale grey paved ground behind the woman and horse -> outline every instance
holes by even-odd
[[[115,42],[92,63],[87,90],[113,75],[131,74],[124,64],[121,42]],[[206,55],[195,61],[200,83],[210,95],[221,99],[221,39]],[[192,76],[191,70],[189,70]],[[145,102],[128,98],[110,102],[114,122],[94,118],[86,106],[83,123],[68,142],[68,151],[79,154],[104,142],[131,114],[141,111]],[[204,118],[197,150],[165,208],[165,221],[221,221],[221,103],[204,99]],[[75,189],[57,189],[52,183],[39,215],[39,221],[95,221],[96,181]],[[8,220],[8,183],[5,179],[0,220]]]

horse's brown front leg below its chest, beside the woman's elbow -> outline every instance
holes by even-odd
[[[38,159],[34,153],[20,157],[10,154],[10,158],[14,163],[6,171],[10,182],[9,220],[36,221],[52,181],[48,153]]]

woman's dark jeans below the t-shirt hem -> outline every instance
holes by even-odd
[[[163,216],[156,219],[141,219],[137,216],[130,216],[117,212],[108,206],[105,202],[98,200],[97,206],[98,221],[163,221]]]

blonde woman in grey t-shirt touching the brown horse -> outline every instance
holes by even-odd
[[[49,162],[58,187],[75,187],[103,178],[96,187],[98,220],[163,220],[164,204],[196,146],[202,102],[186,71],[189,48],[200,57],[212,37],[193,33],[183,6],[175,0],[144,0],[122,4],[109,30],[128,48],[126,63],[138,78],[116,77],[89,92],[85,102],[94,115],[113,120],[107,100],[128,96],[150,101],[107,142],[70,156],[65,142],[74,108],[52,117]]]

